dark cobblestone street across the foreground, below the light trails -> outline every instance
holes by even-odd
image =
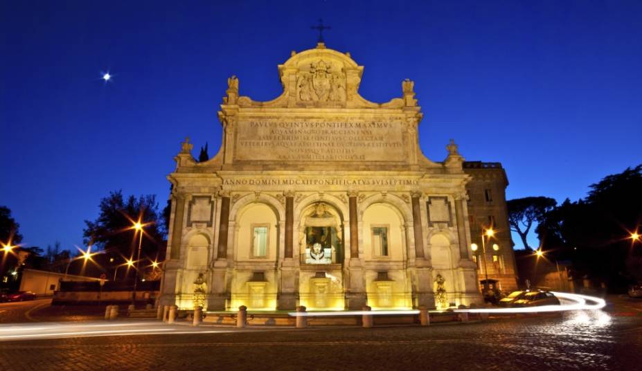
[[[0,370],[640,370],[642,366],[642,316],[603,311],[429,327],[226,330],[231,331],[3,342]]]

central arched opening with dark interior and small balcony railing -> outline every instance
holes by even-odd
[[[343,218],[335,206],[317,201],[301,210],[298,225],[301,264],[341,264],[344,245]]]

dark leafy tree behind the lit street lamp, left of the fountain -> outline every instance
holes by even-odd
[[[123,197],[123,192],[110,192],[100,201],[100,214],[94,221],[85,220],[83,230],[84,244],[96,246],[104,251],[104,259],[109,262],[109,269],[136,259],[139,235],[132,228],[136,221],[143,224],[141,240],[140,266],[149,265],[159,256],[159,243],[166,237],[163,221],[159,213],[156,196],[148,194],[138,198]],[[113,259],[113,260],[112,260]],[[145,264],[145,265],[142,265]],[[121,273],[121,271],[123,273]],[[121,269],[118,275],[133,277],[133,269]]]

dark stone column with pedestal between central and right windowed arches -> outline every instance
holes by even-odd
[[[348,264],[348,292],[346,305],[349,309],[361,309],[366,305],[364,269],[359,260],[359,220],[357,217],[357,192],[348,192],[350,208],[350,263]]]

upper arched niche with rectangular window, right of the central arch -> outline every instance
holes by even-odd
[[[366,260],[401,261],[404,253],[404,219],[390,203],[371,203],[362,213],[362,241]]]

